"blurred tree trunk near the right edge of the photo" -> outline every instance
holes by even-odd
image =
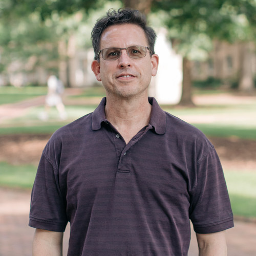
[[[253,46],[250,42],[243,42],[240,45],[240,70],[238,89],[242,92],[251,92],[254,89],[252,72],[252,47]]]

